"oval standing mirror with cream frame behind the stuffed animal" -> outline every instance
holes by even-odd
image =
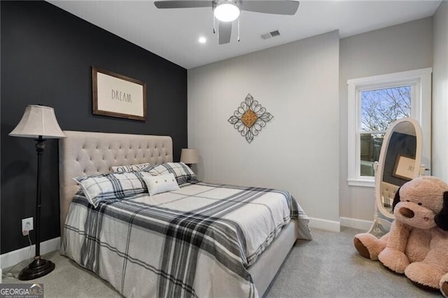
[[[393,122],[384,135],[375,173],[375,201],[377,211],[394,219],[392,204],[398,188],[419,176],[421,165],[421,127],[412,118]],[[377,221],[377,214],[374,215]]]

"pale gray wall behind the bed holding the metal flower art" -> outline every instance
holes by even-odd
[[[189,69],[200,178],[288,190],[310,217],[338,224],[338,82],[337,31]],[[251,144],[228,122],[248,93],[274,115]]]

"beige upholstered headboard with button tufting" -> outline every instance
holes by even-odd
[[[77,176],[111,173],[111,166],[173,161],[169,136],[64,131],[59,140],[59,208],[62,227],[78,185]]]

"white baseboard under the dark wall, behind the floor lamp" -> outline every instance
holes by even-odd
[[[61,237],[53,238],[41,243],[41,255],[45,253],[51,253],[52,251],[59,250]],[[18,264],[28,257],[34,257],[36,253],[36,246],[31,246],[31,254],[29,253],[29,246],[20,248],[18,250],[10,251],[9,253],[3,253],[0,255],[0,268],[5,269],[15,264]]]

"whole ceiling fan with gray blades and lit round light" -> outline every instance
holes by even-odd
[[[211,7],[214,11],[214,33],[215,18],[219,21],[218,40],[219,44],[230,43],[232,34],[232,21],[237,20],[241,10],[254,13],[272,13],[276,15],[294,15],[299,8],[299,1],[291,0],[165,0],[154,1],[157,8],[202,8]],[[239,19],[238,19],[238,41],[239,41]]]

